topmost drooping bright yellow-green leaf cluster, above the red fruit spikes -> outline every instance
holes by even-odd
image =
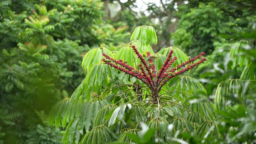
[[[148,45],[149,43],[152,45],[153,43],[157,44],[157,36],[155,29],[152,26],[140,26],[137,27],[131,35],[132,40],[138,40],[142,43],[142,45]]]

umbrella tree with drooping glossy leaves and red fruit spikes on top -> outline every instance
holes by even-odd
[[[156,43],[155,29],[143,25],[124,48],[86,53],[85,79],[50,114],[49,123],[63,128],[68,123],[63,144],[131,143],[129,136],[139,133],[141,123],[156,130],[153,138],[159,143],[173,143],[179,131],[204,137],[211,128],[209,135],[219,134],[204,87],[182,76],[206,61],[204,52],[194,58],[175,47],[154,53]]]

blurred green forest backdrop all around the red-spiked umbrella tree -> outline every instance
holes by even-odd
[[[132,10],[137,7],[132,0],[1,0],[0,144],[61,143],[65,126],[49,127],[48,115],[90,74],[85,65],[81,67],[86,52],[97,47],[124,50],[132,31],[140,25],[155,28],[158,44],[152,48],[162,49],[162,55],[163,48],[169,46],[188,56],[207,53],[207,62],[187,75],[198,78],[211,102],[214,96],[231,99],[229,105],[216,100],[223,108],[216,111],[221,137],[209,140],[255,143],[255,83],[247,83],[255,80],[255,1],[184,2],[147,4],[147,16]],[[114,17],[109,16],[110,4],[121,7]],[[128,79],[123,78],[124,82]],[[104,83],[88,85],[97,92]],[[243,98],[237,101],[239,92],[227,92],[236,91],[231,85],[247,86],[250,91],[241,93]],[[202,143],[192,133],[180,135],[189,143]]]

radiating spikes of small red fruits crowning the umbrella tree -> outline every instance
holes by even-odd
[[[206,61],[206,58],[203,58],[204,52],[202,52],[200,55],[195,56],[194,58],[189,59],[189,61],[183,62],[182,64],[178,65],[177,67],[169,68],[171,65],[175,62],[177,57],[172,57],[173,50],[170,50],[167,59],[165,60],[164,64],[162,65],[160,71],[158,74],[156,74],[155,70],[155,64],[153,62],[153,59],[155,56],[150,56],[150,53],[147,52],[147,60],[149,61],[149,65],[147,64],[146,60],[141,56],[141,54],[138,52],[138,50],[135,48],[134,45],[131,46],[138,58],[140,59],[139,68],[140,70],[135,70],[135,68],[132,68],[130,65],[123,62],[123,60],[115,60],[111,58],[110,56],[103,53],[102,55],[106,58],[103,58],[102,60],[109,64],[110,67],[114,67],[120,71],[123,71],[132,77],[137,77],[140,79],[143,83],[145,83],[147,86],[149,86],[152,89],[161,89],[162,86],[170,80],[172,77],[176,77],[179,74],[183,74],[185,71],[190,70],[191,68],[203,63]],[[196,62],[195,64],[191,64],[196,59],[200,59],[200,61]],[[188,65],[189,64],[189,65]],[[120,66],[118,66],[120,65]],[[182,70],[179,70],[179,68],[184,67],[185,65],[188,65],[186,68],[183,68]],[[179,71],[177,71],[179,70]]]

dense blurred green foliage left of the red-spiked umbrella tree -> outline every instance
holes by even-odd
[[[95,46],[123,45],[129,33],[103,21],[98,0],[0,1],[0,143],[61,143],[45,124],[85,73]]]

